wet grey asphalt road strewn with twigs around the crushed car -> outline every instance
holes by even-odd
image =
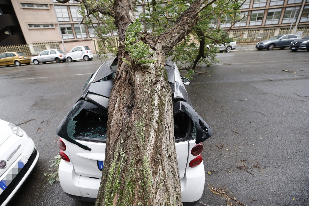
[[[308,57],[288,49],[218,53],[220,63],[193,74],[188,94],[214,130],[203,143],[205,189],[197,205],[227,205],[224,194],[248,206],[308,205]],[[58,125],[100,65],[0,67],[0,119],[20,124],[40,153],[10,206],[94,205],[69,198],[59,183],[50,186],[44,172],[59,152]]]

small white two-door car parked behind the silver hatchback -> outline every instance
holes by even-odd
[[[85,60],[85,61],[93,59],[93,54],[92,54],[90,48],[87,47],[87,46],[74,47],[66,55],[66,60],[68,62],[76,61],[76,60],[82,60],[82,59]]]

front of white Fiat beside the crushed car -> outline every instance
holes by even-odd
[[[38,162],[39,152],[18,126],[0,120],[0,205],[5,206]]]

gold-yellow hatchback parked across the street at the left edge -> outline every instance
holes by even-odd
[[[21,64],[30,64],[30,58],[23,52],[5,52],[0,54],[0,66],[10,65],[20,66]]]

